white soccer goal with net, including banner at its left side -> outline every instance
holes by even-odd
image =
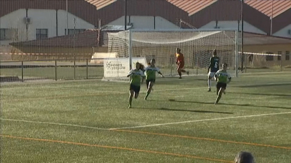
[[[129,29],[108,33],[108,53],[116,53],[116,58],[104,61],[103,80],[128,80],[126,73],[134,68],[136,61],[147,64],[151,59],[155,59],[155,65],[164,76],[177,76],[176,48],[184,54],[184,68],[191,76],[207,75],[214,49],[220,57],[220,65],[227,63],[229,73],[237,76],[238,31]],[[114,63],[115,68],[106,66],[108,63]]]

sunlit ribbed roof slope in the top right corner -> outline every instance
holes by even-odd
[[[273,18],[291,9],[290,0],[245,0],[244,3]]]

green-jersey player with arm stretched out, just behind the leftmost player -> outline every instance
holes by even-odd
[[[147,100],[147,97],[149,96],[149,93],[151,93],[151,89],[153,88],[153,85],[155,84],[155,72],[160,74],[163,78],[163,74],[160,72],[159,68],[155,67],[155,59],[151,59],[151,65],[147,66],[145,69],[146,72],[146,82],[147,82],[147,95],[144,97],[144,100]]]

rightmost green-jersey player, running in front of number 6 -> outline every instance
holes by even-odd
[[[221,95],[225,92],[225,89],[227,89],[227,84],[231,81],[231,76],[227,73],[227,63],[223,63],[223,69],[218,70],[218,72],[215,73],[214,79],[217,81],[216,84],[216,102],[217,104],[221,98]]]

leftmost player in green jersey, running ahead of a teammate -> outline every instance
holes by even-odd
[[[136,63],[136,69],[130,70],[127,77],[131,76],[130,86],[129,86],[129,106],[131,108],[132,98],[138,98],[138,93],[140,93],[140,85],[144,80],[144,72],[142,72],[144,65],[141,63]],[[140,82],[140,80],[142,80]]]

